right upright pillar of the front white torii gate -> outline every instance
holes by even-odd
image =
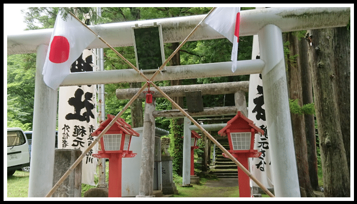
[[[268,24],[258,32],[267,130],[276,197],[300,197],[285,73],[282,31]]]

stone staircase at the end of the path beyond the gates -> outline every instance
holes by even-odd
[[[229,150],[230,145],[228,144],[227,137],[222,137],[217,140],[225,149]],[[224,158],[222,155],[222,150],[216,146],[216,159],[214,165],[211,166],[211,172],[217,175],[218,178],[237,178],[238,168],[237,165],[231,160]]]

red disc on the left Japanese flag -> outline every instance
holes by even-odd
[[[69,57],[69,42],[66,37],[55,36],[49,50],[49,61],[53,63],[63,63]]]

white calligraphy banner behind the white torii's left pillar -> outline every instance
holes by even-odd
[[[91,50],[71,66],[71,72],[93,71]],[[91,136],[97,125],[96,86],[70,86],[59,88],[58,148],[78,149],[82,152],[94,141]],[[82,183],[95,186],[98,144],[82,160]]]

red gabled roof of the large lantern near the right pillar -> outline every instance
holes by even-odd
[[[237,115],[234,118],[227,122],[227,125],[222,130],[218,131],[218,134],[220,134],[221,136],[226,136],[228,129],[254,129],[256,133],[259,133],[261,135],[264,134],[264,131],[262,129],[256,126],[252,120],[249,120],[240,111],[238,111]]]

